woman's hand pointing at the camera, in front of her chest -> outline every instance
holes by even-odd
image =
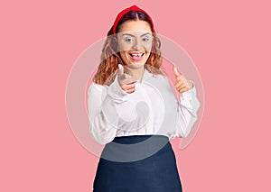
[[[121,64],[118,64],[117,81],[122,90],[124,90],[127,94],[135,92],[136,79],[124,73],[124,69]]]

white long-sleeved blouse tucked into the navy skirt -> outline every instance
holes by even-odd
[[[145,69],[132,94],[122,90],[117,77],[109,87],[90,85],[89,132],[100,144],[127,135],[159,134],[170,140],[186,137],[197,120],[199,106],[194,86],[181,94],[180,104],[169,80]]]

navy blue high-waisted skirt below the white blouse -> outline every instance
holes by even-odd
[[[106,144],[98,162],[94,192],[182,192],[168,137],[133,135]]]

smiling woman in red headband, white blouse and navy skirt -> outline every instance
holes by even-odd
[[[152,18],[135,5],[107,33],[89,87],[89,131],[106,144],[95,192],[182,191],[169,141],[190,133],[199,102],[192,81],[173,68],[179,104],[161,69],[160,46]]]

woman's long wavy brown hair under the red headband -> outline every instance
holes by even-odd
[[[117,32],[119,30],[119,26],[126,21],[136,21],[141,20],[147,23],[151,23],[148,19],[148,16],[139,11],[130,11],[125,14],[117,24]],[[152,28],[152,25],[150,24]],[[154,29],[152,29],[154,32]],[[145,63],[145,69],[147,69],[150,73],[157,75],[163,74],[160,69],[162,66],[162,56],[161,56],[161,41],[157,37],[156,33],[153,33],[153,45],[149,58]],[[113,32],[113,26],[107,32],[107,40],[104,43],[102,53],[101,53],[101,62],[98,66],[98,71],[94,77],[94,82],[98,85],[110,85],[117,74],[118,64],[125,65],[123,60],[120,57],[119,51],[117,50],[117,37]],[[125,72],[129,74],[129,71]]]

